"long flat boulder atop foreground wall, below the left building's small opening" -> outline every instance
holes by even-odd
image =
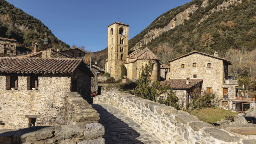
[[[50,138],[54,134],[54,127],[45,127],[34,132],[24,133],[21,135],[22,140],[39,141]]]

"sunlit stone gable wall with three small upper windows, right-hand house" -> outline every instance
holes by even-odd
[[[196,67],[193,67],[194,62],[197,63]],[[212,64],[211,68],[207,67],[208,63]],[[185,64],[185,68],[181,68],[182,64]],[[223,96],[222,60],[196,53],[171,62],[170,71],[172,79],[187,77],[192,79],[196,74],[197,79],[203,79],[202,91],[206,91],[206,88],[210,87],[216,96]]]

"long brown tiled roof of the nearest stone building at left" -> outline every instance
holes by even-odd
[[[93,76],[82,59],[64,58],[0,58],[0,73],[73,74],[80,65]]]

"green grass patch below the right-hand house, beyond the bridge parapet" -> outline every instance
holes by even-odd
[[[199,120],[207,123],[216,123],[221,119],[225,119],[227,115],[237,115],[238,113],[231,112],[230,110],[224,110],[221,108],[205,108],[200,110],[194,110],[192,115],[198,117]]]

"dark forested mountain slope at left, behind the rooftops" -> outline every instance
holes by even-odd
[[[31,48],[37,42],[43,48],[43,42],[39,38],[48,38],[49,48],[61,49],[70,47],[57,39],[51,30],[40,20],[14,7],[5,0],[0,0],[0,37],[14,37],[22,46]]]

